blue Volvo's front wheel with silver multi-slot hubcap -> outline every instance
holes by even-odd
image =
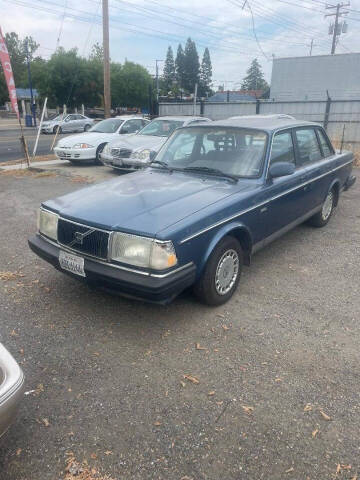
[[[224,237],[215,247],[200,279],[194,285],[194,294],[206,305],[222,305],[235,292],[242,266],[243,251],[240,243],[234,237]]]

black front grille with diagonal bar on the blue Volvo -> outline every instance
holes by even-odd
[[[63,218],[58,220],[58,241],[72,250],[107,259],[108,232],[77,225]]]

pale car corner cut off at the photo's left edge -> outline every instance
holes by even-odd
[[[0,437],[16,416],[24,391],[24,374],[14,358],[0,344]]]

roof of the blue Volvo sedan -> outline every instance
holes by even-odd
[[[281,128],[299,127],[307,125],[319,126],[318,123],[306,122],[304,120],[296,120],[295,118],[290,117],[290,115],[244,115],[243,117],[232,117],[224,120],[216,120],[214,122],[211,122],[210,124],[199,124],[196,125],[196,127],[239,127],[273,132]]]

